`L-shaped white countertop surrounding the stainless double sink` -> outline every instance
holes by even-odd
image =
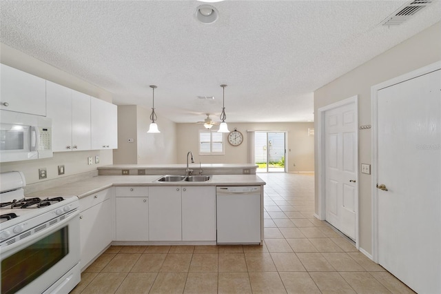
[[[134,166],[138,165],[134,164]],[[176,166],[176,164],[174,166]],[[156,168],[158,168],[158,166],[156,166]],[[82,198],[112,186],[262,186],[266,184],[257,175],[212,175],[212,179],[209,182],[154,182],[161,176],[162,175],[100,175],[79,182],[63,184],[54,188],[29,193],[26,194],[26,196],[78,196]]]

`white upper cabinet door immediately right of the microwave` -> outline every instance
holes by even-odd
[[[72,150],[72,90],[46,81],[47,114],[52,119],[52,151]]]

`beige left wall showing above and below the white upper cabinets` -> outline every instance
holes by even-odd
[[[83,92],[93,97],[98,97],[105,101],[112,102],[112,94],[101,88],[98,88],[82,79],[69,75],[58,68],[54,68],[47,63],[39,61],[23,52],[10,48],[0,43],[0,62],[13,68],[29,72],[32,75],[48,79],[54,83],[61,84],[68,88]],[[88,157],[100,156],[99,164],[88,165]],[[58,166],[64,164],[65,174],[58,175]],[[21,170],[25,175],[27,184],[47,181],[76,175],[79,173],[96,170],[98,166],[112,164],[112,150],[91,150],[54,153],[54,157],[47,159],[35,159],[27,161],[6,162],[0,164],[0,171]],[[48,178],[40,180],[38,175],[39,168],[47,168]]]

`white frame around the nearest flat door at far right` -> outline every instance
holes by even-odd
[[[378,91],[384,88],[400,84],[403,81],[414,79],[429,72],[441,69],[441,61],[431,63],[428,66],[418,68],[404,75],[394,77],[371,87],[371,128],[372,128],[372,168],[371,168],[371,205],[372,205],[372,260],[378,263]]]

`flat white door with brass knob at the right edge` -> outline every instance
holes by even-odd
[[[441,293],[441,70],[378,90],[378,262]],[[387,189],[387,190],[386,190]]]

